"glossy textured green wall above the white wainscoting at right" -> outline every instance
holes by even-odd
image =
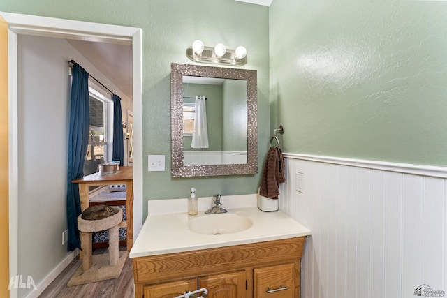
[[[447,166],[446,11],[274,0],[270,117],[284,151]]]

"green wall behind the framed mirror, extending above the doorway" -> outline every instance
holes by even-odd
[[[173,179],[170,177],[170,64],[186,58],[193,40],[228,48],[244,45],[248,63],[258,71],[258,161],[268,149],[268,7],[234,0],[3,0],[0,10],[142,28],[143,169],[148,154],[166,155],[165,172],[143,172],[143,218],[147,200],[186,198],[191,186],[199,197],[215,193],[256,193],[260,175]],[[263,142],[263,140],[265,142]]]

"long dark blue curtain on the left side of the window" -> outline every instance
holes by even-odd
[[[78,184],[73,179],[84,176],[84,163],[89,144],[89,74],[74,64],[72,68],[70,131],[68,131],[67,223],[68,251],[80,248],[78,216],[81,214]]]

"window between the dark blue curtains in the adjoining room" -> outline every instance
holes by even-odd
[[[109,127],[109,112],[112,110],[111,100],[98,91],[89,88],[90,98],[90,127],[89,144],[84,163],[84,175],[98,172],[98,165],[105,163],[110,158],[109,150],[112,148],[109,142],[111,130]]]

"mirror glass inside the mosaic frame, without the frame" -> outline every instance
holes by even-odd
[[[200,97],[206,98],[205,113],[196,112]],[[184,75],[183,111],[184,165],[247,163],[246,80]],[[198,146],[200,137],[208,146]]]

